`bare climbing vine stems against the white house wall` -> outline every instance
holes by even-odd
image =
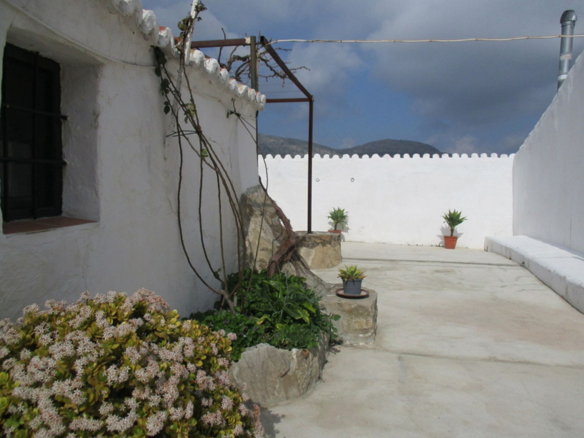
[[[209,290],[213,291],[213,293],[218,294],[221,296],[222,304],[227,305],[231,312],[235,312],[235,307],[237,306],[237,292],[241,288],[242,283],[245,281],[243,278],[244,269],[245,269],[245,256],[246,256],[246,235],[245,235],[245,228],[244,228],[244,221],[242,217],[242,208],[241,204],[239,203],[239,196],[237,190],[235,190],[234,183],[231,179],[227,168],[221,161],[220,155],[218,155],[217,151],[217,144],[210,140],[206,134],[204,133],[203,127],[201,127],[200,119],[199,119],[199,112],[197,110],[197,105],[194,101],[193,95],[193,88],[190,84],[188,75],[184,74],[186,65],[189,62],[189,54],[190,54],[190,34],[193,32],[194,24],[200,20],[199,14],[205,10],[205,6],[201,3],[196,5],[194,8],[193,16],[188,16],[187,18],[183,19],[182,22],[179,23],[179,29],[181,30],[180,37],[178,38],[177,48],[180,53],[180,63],[178,69],[178,75],[173,76],[171,71],[167,68],[167,59],[164,52],[158,47],[154,47],[154,54],[155,60],[157,63],[157,67],[155,68],[155,74],[160,78],[161,84],[161,92],[162,95],[165,96],[166,100],[164,102],[164,113],[169,114],[171,113],[174,121],[174,131],[170,134],[172,137],[178,138],[178,145],[179,145],[179,181],[178,181],[178,194],[177,194],[177,204],[178,204],[178,226],[179,226],[179,234],[180,234],[180,243],[185,253],[185,257],[187,262],[189,263],[190,268],[193,270],[194,274],[197,278],[203,283]],[[231,55],[234,54],[234,51]],[[230,57],[231,57],[230,55]],[[263,55],[262,55],[263,56]],[[259,58],[262,62],[262,57]],[[239,60],[242,62],[247,62],[247,59]],[[235,62],[235,60],[232,60]],[[267,64],[266,64],[267,65]],[[230,64],[230,67],[232,63]],[[269,65],[267,65],[269,67]],[[249,62],[248,62],[249,67]],[[303,67],[301,67],[303,68]],[[244,69],[238,69],[238,75],[241,75],[241,72],[245,72]],[[274,72],[275,73],[275,72]],[[277,77],[281,77],[276,74]],[[283,79],[283,77],[281,77]],[[184,81],[184,84],[183,84]],[[186,93],[183,90],[186,89]],[[242,115],[237,111],[235,107],[235,100],[232,101],[233,109],[228,110],[227,117],[235,115],[238,120],[242,123],[245,129],[248,131],[249,135],[253,138],[256,142],[258,139],[254,132],[256,127],[253,126],[248,120],[244,119]],[[187,128],[188,127],[188,128]],[[203,274],[200,271],[200,267],[195,266],[193,260],[189,254],[189,251],[186,248],[185,244],[185,235],[183,231],[183,217],[182,217],[182,206],[181,206],[181,195],[183,191],[183,172],[184,172],[184,161],[185,161],[185,154],[187,151],[191,151],[199,158],[199,202],[197,206],[197,217],[199,220],[199,238],[201,249],[203,251],[203,256],[207,265],[207,268],[213,273],[215,279],[217,279],[221,287],[213,287],[213,285],[205,280]],[[204,173],[205,172],[212,172],[215,175],[215,181],[217,185],[217,204],[215,208],[217,208],[218,217],[219,217],[219,230],[220,230],[220,252],[221,252],[221,267],[219,269],[215,269],[211,260],[208,256],[207,246],[205,244],[204,233],[203,233],[203,220],[202,220],[202,212],[206,210],[207,206],[203,205],[203,185],[205,183]],[[266,172],[267,175],[267,172]],[[269,265],[267,267],[268,274],[272,276],[274,273],[280,270],[280,266],[282,262],[290,260],[293,256],[294,249],[296,248],[296,234],[292,230],[290,225],[290,221],[281,210],[280,207],[269,197],[267,194],[267,181],[266,186],[263,186],[263,190],[265,192],[263,208],[262,208],[262,223],[260,224],[260,233],[262,232],[263,228],[263,216],[264,210],[266,207],[266,203],[269,200],[273,203],[274,207],[276,208],[276,213],[280,218],[281,222],[284,224],[284,228],[286,229],[287,239],[283,242],[280,248],[274,253],[272,258],[269,261]],[[235,233],[237,235],[237,266],[238,266],[238,282],[235,287],[227,287],[227,265],[225,263],[225,248],[224,248],[224,214],[225,211],[222,206],[222,197],[227,199],[227,203],[229,206],[229,214],[234,218],[235,223]],[[253,266],[255,266],[256,259],[258,257],[259,251],[259,238],[258,238],[258,246],[255,248],[255,258],[253,260]]]

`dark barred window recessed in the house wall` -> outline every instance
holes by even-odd
[[[62,213],[60,66],[6,44],[0,112],[0,190],[5,222]]]

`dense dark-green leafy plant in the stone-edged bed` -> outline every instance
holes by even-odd
[[[323,333],[336,339],[329,315],[319,307],[319,297],[304,286],[302,277],[277,273],[272,277],[266,270],[244,272],[244,284],[237,294],[236,314],[225,310],[192,314],[202,324],[213,329],[223,328],[237,334],[232,343],[233,360],[239,360],[247,347],[268,343],[284,349],[310,349],[318,346]],[[228,277],[228,287],[235,286],[238,274]]]

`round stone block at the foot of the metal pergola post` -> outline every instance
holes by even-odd
[[[335,232],[296,232],[298,254],[310,269],[326,269],[341,262],[340,234]]]

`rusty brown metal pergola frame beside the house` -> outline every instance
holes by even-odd
[[[258,81],[258,58],[257,58],[257,44],[255,36],[248,38],[234,38],[234,39],[224,39],[224,40],[205,40],[205,41],[192,41],[190,43],[190,48],[206,48],[206,47],[233,47],[233,46],[250,46],[250,72],[251,86],[253,89],[258,91],[259,81]],[[266,99],[266,103],[296,103],[296,102],[308,102],[308,217],[307,217],[307,231],[312,232],[312,126],[314,121],[314,96],[308,92],[306,88],[298,81],[298,78],[294,76],[293,72],[288,68],[286,62],[280,58],[280,55],[270,46],[269,41],[264,37],[259,37],[259,44],[261,44],[270,54],[272,59],[278,64],[278,67],[286,74],[286,77],[298,87],[298,89],[304,94],[304,98],[291,98],[291,99]],[[258,126],[256,116],[256,130]]]

